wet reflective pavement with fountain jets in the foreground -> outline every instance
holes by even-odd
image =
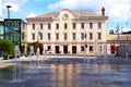
[[[0,69],[0,87],[131,87],[131,64],[127,60],[88,62],[74,58],[15,63]]]

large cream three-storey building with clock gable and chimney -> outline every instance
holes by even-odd
[[[26,20],[27,41],[43,44],[45,51],[60,54],[104,52],[108,24],[105,8],[102,9],[102,14],[63,9]]]

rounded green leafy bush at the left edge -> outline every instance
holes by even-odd
[[[7,39],[0,39],[0,50],[5,54],[14,55],[14,44]]]

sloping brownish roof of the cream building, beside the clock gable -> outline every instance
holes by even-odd
[[[67,9],[63,9],[61,11],[66,11]],[[70,10],[67,10],[70,11]],[[72,12],[70,11],[74,16],[79,17],[79,18],[85,18],[85,17],[105,17],[107,18],[107,16],[103,16],[100,14],[96,14],[96,13],[91,13],[91,12]],[[59,16],[59,12],[53,12],[53,13],[46,13],[46,14],[41,14],[41,15],[37,15],[34,17],[27,17],[26,20],[52,20],[53,17]]]

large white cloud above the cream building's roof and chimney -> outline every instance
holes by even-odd
[[[131,0],[60,0],[50,3],[48,9],[70,9],[74,11],[90,11],[100,13],[102,7],[106,9],[106,15],[111,21],[126,21],[131,18]]]

